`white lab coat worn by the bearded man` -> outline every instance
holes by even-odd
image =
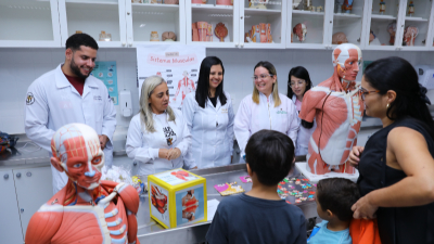
[[[27,90],[25,130],[29,139],[50,152],[54,132],[71,123],[92,127],[98,134],[108,138],[104,149],[105,164],[113,158],[112,137],[116,128],[116,110],[105,85],[89,76],[82,95],[66,79],[62,64],[37,78]],[[67,182],[65,172],[51,166],[53,193]]]

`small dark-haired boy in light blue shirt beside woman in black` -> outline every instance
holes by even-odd
[[[317,184],[316,202],[318,216],[323,219],[314,228],[308,244],[352,244],[349,222],[352,206],[359,200],[357,184],[344,178],[329,178]]]

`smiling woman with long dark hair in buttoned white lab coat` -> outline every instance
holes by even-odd
[[[197,168],[229,165],[233,150],[233,108],[224,91],[225,68],[220,59],[202,61],[197,89],[183,100],[182,114],[192,136],[186,164]]]

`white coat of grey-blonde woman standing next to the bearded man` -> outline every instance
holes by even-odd
[[[140,119],[140,113],[132,117],[127,136],[126,150],[127,155],[133,162],[139,165],[139,175],[152,175],[155,172],[162,172],[174,168],[181,168],[183,165],[183,157],[190,146],[191,134],[187,127],[186,120],[182,114],[178,110],[175,112],[175,121],[167,121],[168,126],[176,133],[173,144],[169,146],[163,127],[158,119],[154,119],[155,132],[149,132]],[[167,115],[167,114],[166,114]],[[168,115],[166,117],[168,119]],[[175,149],[178,147],[181,151],[181,156],[174,160],[167,160],[158,157],[159,149]],[[188,168],[193,168],[195,165],[186,165]]]

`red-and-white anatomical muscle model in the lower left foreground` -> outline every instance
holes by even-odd
[[[139,243],[139,195],[131,185],[104,181],[97,132],[82,124],[61,127],[51,140],[51,164],[66,185],[31,217],[25,243]]]

